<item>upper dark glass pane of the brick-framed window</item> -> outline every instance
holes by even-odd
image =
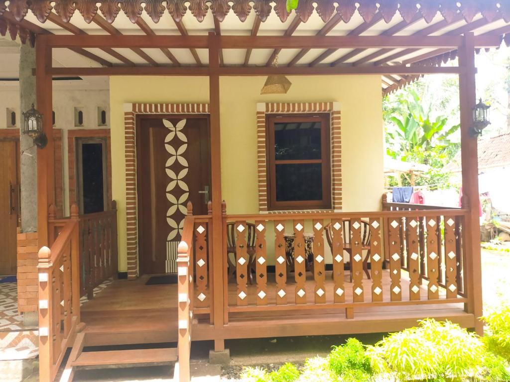
[[[278,122],[274,124],[274,158],[320,159],[320,122]]]

